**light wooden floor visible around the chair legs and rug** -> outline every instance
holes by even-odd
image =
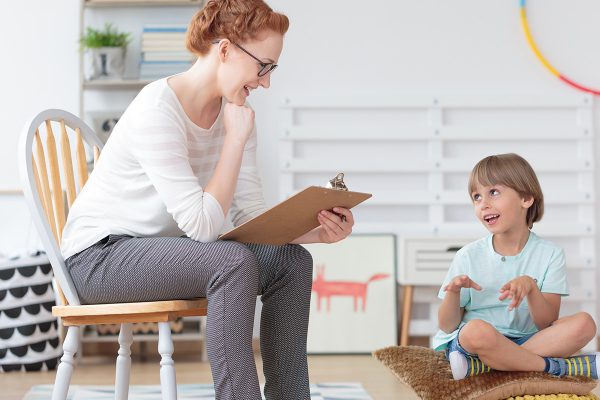
[[[196,359],[175,357],[177,383],[212,383],[208,363]],[[196,357],[194,357],[196,358]],[[131,384],[158,384],[158,358],[141,361],[133,359]],[[262,370],[260,357],[257,368]],[[113,385],[115,366],[108,357],[85,357],[75,369],[73,384]],[[377,360],[368,355],[360,356],[310,356],[310,382],[360,382],[373,399],[416,400],[418,397],[402,385]],[[54,383],[55,371],[0,373],[0,398],[21,399],[31,386]],[[259,375],[264,382],[262,375]]]

